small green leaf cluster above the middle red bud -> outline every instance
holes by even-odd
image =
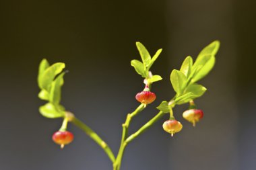
[[[162,52],[162,49],[159,49],[156,52],[156,54],[154,54],[154,56],[151,58],[150,53],[148,52],[146,47],[143,46],[143,44],[141,44],[141,42],[136,42],[136,46],[137,46],[137,49],[139,50],[139,54],[141,56],[142,62],[140,62],[139,60],[131,60],[131,66],[134,67],[135,71],[139,75],[141,75],[141,77],[146,79],[151,79],[150,73],[149,73],[150,68],[152,67],[152,65],[154,64],[154,62],[156,61],[160,53]],[[149,82],[160,81],[162,78],[159,79],[159,77],[160,76],[157,76],[157,78],[154,77],[153,79],[148,81]]]

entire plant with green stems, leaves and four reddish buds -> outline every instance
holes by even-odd
[[[92,128],[76,118],[73,113],[65,110],[63,105],[60,104],[61,87],[63,86],[63,77],[66,73],[63,71],[63,69],[65,69],[65,63],[57,62],[53,65],[49,65],[49,62],[46,59],[43,59],[40,62],[38,71],[38,86],[40,88],[40,93],[38,93],[38,97],[47,101],[47,103],[40,106],[39,112],[46,118],[63,119],[61,128],[55,132],[52,137],[55,143],[61,145],[61,148],[63,148],[65,144],[72,142],[74,137],[71,132],[67,131],[67,124],[74,124],[83,130],[103,149],[113,163],[113,170],[119,170],[121,168],[121,161],[127,144],[148,130],[148,128],[160,120],[164,115],[167,114],[169,117],[169,119],[162,125],[166,132],[173,136],[173,134],[182,130],[183,125],[174,118],[174,113],[172,112],[174,106],[189,103],[188,110],[183,112],[183,118],[191,122],[193,126],[203,118],[203,112],[202,110],[197,109],[194,100],[201,97],[201,95],[205,93],[206,88],[203,87],[203,85],[199,85],[197,81],[205,77],[205,75],[207,75],[214,67],[215,55],[220,46],[220,42],[218,41],[214,41],[203,48],[203,50],[199,52],[195,62],[193,62],[191,56],[187,56],[181,65],[181,69],[174,69],[172,73],[170,73],[170,83],[172,84],[176,95],[170,100],[162,101],[156,108],[159,110],[158,114],[141,126],[139,130],[132,134],[128,133],[131,120],[139,114],[139,112],[142,112],[148,104],[156,99],[156,94],[151,91],[152,85],[157,81],[162,80],[160,75],[152,75],[150,72],[152,65],[162,52],[162,49],[159,49],[156,54],[151,57],[143,44],[136,42],[136,46],[139,50],[142,62],[139,60],[131,60],[131,66],[134,67],[135,71],[143,78],[145,88],[135,95],[135,99],[141,104],[133,112],[127,114],[127,118],[122,124],[123,134],[121,136],[121,144],[117,155],[113,153],[108,144],[106,144],[106,142],[104,142]]]

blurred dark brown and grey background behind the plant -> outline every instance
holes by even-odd
[[[102,149],[70,125],[75,135],[63,151],[51,136],[61,120],[40,116],[36,83],[42,58],[65,62],[62,103],[117,153],[121,124],[139,104],[142,79],[130,66],[135,42],[153,54],[157,99],[135,118],[130,132],[152,118],[174,95],[169,76],[183,59],[195,59],[220,40],[216,67],[199,83],[208,91],[195,102],[205,117],[195,128],[174,114],[183,130],[170,138],[162,118],[127,146],[124,170],[256,169],[255,1],[1,1],[0,169],[112,169]]]

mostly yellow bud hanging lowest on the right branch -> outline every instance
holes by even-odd
[[[164,124],[162,124],[162,128],[172,136],[173,134],[180,132],[182,127],[181,122],[178,122],[177,120],[166,120]]]

